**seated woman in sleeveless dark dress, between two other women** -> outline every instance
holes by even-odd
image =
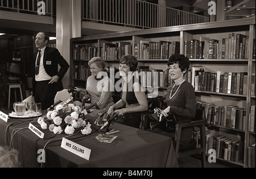
[[[118,123],[139,128],[141,112],[148,109],[146,93],[138,78],[134,76],[138,66],[133,55],[122,56],[119,64],[119,73],[122,77],[121,99],[109,107],[108,114],[117,113]]]

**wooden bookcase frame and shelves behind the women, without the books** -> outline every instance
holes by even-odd
[[[238,59],[191,59],[192,66],[203,65],[205,71],[217,73],[221,72],[247,72],[247,83],[246,94],[228,94],[228,93],[217,93],[214,91],[197,90],[196,98],[197,101],[212,102],[215,105],[237,105],[246,109],[246,122],[245,130],[238,130],[236,128],[223,127],[214,124],[207,125],[207,133],[214,133],[225,135],[227,138],[232,140],[243,141],[243,153],[242,160],[228,161],[221,158],[217,158],[219,161],[229,163],[230,165],[237,165],[241,167],[247,167],[247,147],[255,143],[255,131],[249,132],[249,116],[250,106],[255,105],[255,95],[251,95],[251,74],[255,73],[255,59],[253,60],[253,39],[255,39],[255,17],[246,19],[226,20],[224,22],[211,22],[203,24],[192,24],[175,27],[164,27],[155,28],[149,30],[139,30],[131,32],[118,32],[104,35],[85,36],[82,38],[71,39],[71,68],[70,68],[70,82],[74,86],[85,87],[86,78],[79,79],[75,78],[75,66],[81,68],[84,65],[88,68],[88,60],[75,57],[75,45],[88,45],[89,47],[96,48],[96,52],[93,56],[102,56],[102,49],[106,43],[117,44],[119,41],[130,42],[132,45],[132,54],[135,55],[134,44],[140,44],[142,41],[160,42],[160,41],[179,41],[179,52],[184,54],[185,41],[191,39],[200,40],[203,38],[217,39],[221,41],[223,38],[228,38],[230,33],[243,34],[248,38],[247,58]],[[156,46],[157,47],[157,46]],[[151,52],[150,52],[151,53]],[[169,55],[170,56],[170,55]],[[149,55],[149,57],[151,57]],[[138,57],[138,66],[149,66],[152,69],[166,70],[168,57],[166,59],[152,59],[146,58],[141,59]],[[118,68],[119,60],[117,58],[112,60],[106,60],[109,67]],[[77,70],[77,69],[76,69]],[[81,72],[81,70],[80,70]],[[166,94],[166,87],[158,88],[158,95]]]

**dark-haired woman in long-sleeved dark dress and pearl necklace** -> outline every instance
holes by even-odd
[[[168,87],[166,103],[168,107],[162,111],[162,115],[172,113],[176,116],[177,123],[191,122],[196,115],[196,95],[191,83],[185,81],[190,61],[184,55],[172,55],[167,63],[171,79],[174,84]],[[181,130],[180,145],[187,145],[191,141],[192,127]]]

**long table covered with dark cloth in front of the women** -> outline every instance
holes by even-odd
[[[171,138],[154,132],[140,130],[112,122],[110,129],[119,130],[112,143],[98,141],[96,136],[105,134],[105,128],[92,124],[92,132],[82,135],[81,132],[69,136],[53,134],[42,130],[38,118],[9,118],[8,122],[0,119],[0,145],[10,145],[19,151],[20,166],[25,168],[176,168],[177,156]],[[29,128],[34,125],[44,132],[40,139]],[[63,138],[91,150],[89,160],[84,159],[61,147]],[[45,151],[45,161],[39,163],[40,149]],[[42,161],[42,160],[41,160]]]

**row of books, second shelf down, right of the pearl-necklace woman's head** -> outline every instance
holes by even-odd
[[[205,72],[203,66],[192,66],[188,71],[188,82],[195,91],[212,91],[228,94],[247,94],[247,85],[251,85],[251,95],[255,95],[255,73],[251,82],[247,80],[247,72]]]

